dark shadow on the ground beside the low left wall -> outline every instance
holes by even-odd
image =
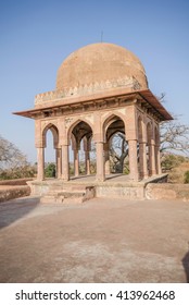
[[[22,219],[39,205],[37,198],[18,198],[0,203],[0,229]]]

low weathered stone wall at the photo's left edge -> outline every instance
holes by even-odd
[[[17,186],[1,186],[0,187],[0,203],[7,202],[10,199],[29,196],[30,187],[27,185],[17,185]]]

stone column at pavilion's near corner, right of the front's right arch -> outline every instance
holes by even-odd
[[[138,181],[137,139],[128,141],[130,179]]]

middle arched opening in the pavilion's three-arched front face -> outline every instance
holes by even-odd
[[[70,173],[74,178],[91,173],[91,138],[92,129],[84,121],[79,121],[71,130],[71,147],[73,159],[70,162]]]

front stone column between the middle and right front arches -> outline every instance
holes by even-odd
[[[96,142],[97,150],[97,181],[104,181],[105,179],[105,169],[104,169],[104,151],[103,151],[103,142]]]

